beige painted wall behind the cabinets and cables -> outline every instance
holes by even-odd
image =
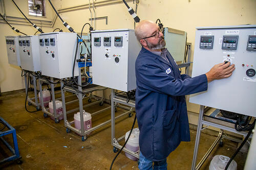
[[[6,2],[7,15],[20,16],[22,15],[17,11],[16,7],[11,1]],[[23,9],[28,11],[27,1],[19,0],[17,4]],[[26,3],[24,3],[26,2]],[[53,10],[50,4],[47,2],[47,17],[29,17],[52,20],[54,17]],[[52,0],[56,9],[63,9],[73,7],[77,5],[88,4],[89,1],[77,0]],[[105,24],[105,19],[96,20],[96,29],[119,29],[119,28],[134,28],[134,22],[131,15],[127,12],[127,8],[120,0],[120,3],[114,3],[111,5],[101,5],[102,0],[96,1],[96,17],[108,16],[108,25]],[[116,1],[108,1],[116,2]],[[135,9],[133,1],[127,1],[128,4]],[[92,1],[91,1],[92,4]],[[183,1],[170,1],[170,0],[140,0],[138,6],[138,16],[140,19],[149,19],[156,21],[159,18],[164,27],[171,27],[174,29],[184,30],[187,32],[187,40],[192,43],[192,60],[194,53],[194,41],[196,27],[203,26],[229,26],[229,25],[242,25],[242,24],[256,24],[256,1],[255,0],[183,0]],[[91,9],[92,10],[92,9]],[[3,10],[2,10],[3,11]],[[1,13],[3,13],[1,11]],[[93,10],[92,10],[93,11]],[[81,28],[84,23],[89,22],[91,16],[88,8],[80,10],[73,10],[69,12],[62,12],[61,17],[67,21],[76,32],[81,32]],[[93,14],[94,17],[94,14]],[[14,25],[20,31],[24,31],[27,34],[34,34],[35,29],[31,26]],[[54,28],[61,28],[68,32],[63,27],[60,20],[57,18]],[[94,27],[94,21],[93,21]],[[4,36],[6,35],[18,35],[14,33],[9,26],[4,23],[0,23],[1,30],[1,51],[0,58],[0,86],[1,91],[11,91],[24,88],[22,78],[20,78],[20,69],[8,64],[7,51],[5,45]],[[45,32],[50,32],[53,28],[43,28]],[[86,26],[88,31],[88,26]],[[191,72],[191,69],[190,69]],[[108,96],[109,94],[107,94]],[[188,110],[198,112],[199,106],[188,103]]]

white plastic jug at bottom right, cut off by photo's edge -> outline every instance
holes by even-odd
[[[209,170],[224,170],[229,159],[230,158],[227,156],[215,155],[210,162]],[[237,170],[237,166],[238,166],[237,162],[232,160],[227,170]]]

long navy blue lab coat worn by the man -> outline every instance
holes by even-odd
[[[142,47],[135,64],[140,152],[152,161],[190,141],[184,95],[205,91],[208,85],[206,75],[180,75],[168,51],[167,58],[170,63]]]

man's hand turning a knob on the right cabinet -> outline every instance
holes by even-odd
[[[216,79],[228,78],[232,75],[233,70],[235,69],[234,64],[230,65],[230,62],[220,63],[213,66],[205,75],[207,81],[211,82]]]

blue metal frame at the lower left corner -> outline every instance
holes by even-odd
[[[17,143],[17,136],[16,136],[16,130],[10,126],[2,117],[0,117],[0,120],[2,120],[2,122],[4,122],[6,124],[6,128],[8,128],[7,131],[4,132],[0,132],[0,139],[3,141],[3,143],[6,145],[6,147],[12,152],[12,156],[5,158],[3,160],[0,160],[0,163],[5,163],[8,161],[12,161],[12,160],[19,160],[22,158],[19,155],[19,151],[18,151],[18,143]],[[14,149],[11,147],[11,145],[3,138],[3,136],[8,135],[8,134],[12,134],[12,139],[13,139],[13,146]]]

